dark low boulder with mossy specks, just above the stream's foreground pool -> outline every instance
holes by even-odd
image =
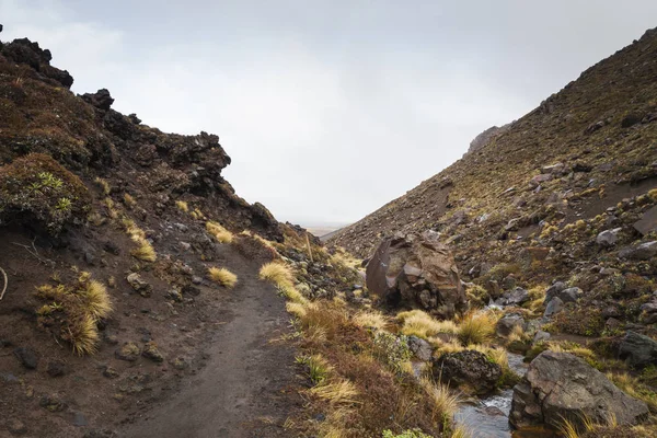
[[[486,394],[495,390],[502,377],[499,365],[473,349],[440,356],[434,360],[431,372],[436,381],[466,387],[475,394]]]

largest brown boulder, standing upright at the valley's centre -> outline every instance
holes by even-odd
[[[449,249],[435,231],[385,239],[367,264],[367,287],[389,304],[452,318],[465,292]]]

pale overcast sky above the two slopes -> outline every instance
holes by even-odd
[[[0,0],[0,23],[73,91],[219,135],[239,195],[313,226],[451,164],[657,26],[657,1]]]

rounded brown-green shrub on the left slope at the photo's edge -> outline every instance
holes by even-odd
[[[78,176],[51,157],[30,153],[0,168],[0,223],[31,223],[57,234],[90,201]]]

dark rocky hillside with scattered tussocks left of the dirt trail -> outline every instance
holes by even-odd
[[[28,39],[0,44],[0,436],[115,436],[212,360],[212,336],[231,339],[219,343],[228,356],[257,349],[276,369],[222,361],[223,376],[251,383],[204,405],[221,412],[257,390],[250,410],[278,436],[268,428],[289,412],[267,394],[293,384],[279,367],[293,353],[266,347],[287,316],[257,272],[273,257],[263,238],[283,241],[284,227],[223,180],[217,136],[146,126],[112,110],[107,90],[76,95],[50,60]],[[280,323],[240,322],[237,306]]]

